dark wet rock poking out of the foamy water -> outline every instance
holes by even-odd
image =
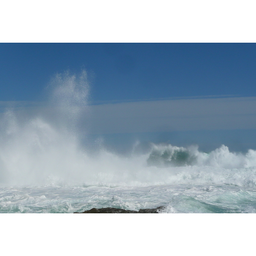
[[[164,208],[165,208],[164,206],[160,206],[154,209],[140,209],[139,211],[131,211],[131,210],[107,207],[107,208],[100,208],[100,209],[92,208],[84,212],[74,212],[74,213],[159,213],[159,211]]]

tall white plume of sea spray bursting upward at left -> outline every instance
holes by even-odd
[[[45,184],[69,180],[84,171],[77,123],[87,105],[87,74],[57,74],[48,86],[49,101],[32,116],[8,109],[0,130],[0,183]],[[23,118],[22,118],[23,117]],[[81,167],[83,166],[83,167]],[[82,169],[82,170],[81,170]]]

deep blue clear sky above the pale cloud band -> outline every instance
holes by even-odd
[[[56,72],[94,73],[93,101],[256,96],[255,44],[0,44],[0,100],[35,100]]]

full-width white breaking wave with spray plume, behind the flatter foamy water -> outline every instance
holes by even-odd
[[[120,156],[81,143],[81,115],[89,113],[87,73],[57,74],[47,105],[33,114],[7,109],[0,122],[0,185],[149,186],[233,184],[256,186],[256,151],[211,152],[154,144],[147,153]],[[89,136],[89,135],[88,135]]]

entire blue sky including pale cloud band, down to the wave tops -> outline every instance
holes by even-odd
[[[92,136],[246,150],[255,59],[256,44],[0,44],[0,102],[39,102],[55,73],[85,68]]]

